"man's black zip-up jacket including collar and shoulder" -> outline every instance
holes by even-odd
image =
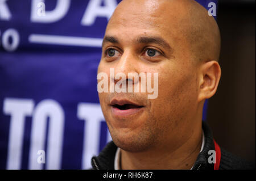
[[[213,170],[214,163],[208,163],[209,150],[215,150],[212,132],[210,131],[207,123],[203,121],[203,130],[205,136],[204,148],[198,155],[195,165],[192,170]],[[114,158],[117,146],[115,146],[113,141],[110,141],[108,145],[101,151],[98,157],[94,156],[92,158],[92,167],[96,170],[114,170]],[[244,161],[241,158],[229,153],[224,149],[221,150],[220,158],[220,170],[233,170],[233,169],[255,169],[255,163],[250,163]]]

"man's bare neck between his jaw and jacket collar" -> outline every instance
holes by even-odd
[[[191,169],[200,153],[202,145],[202,128],[197,128],[193,134],[179,145],[158,145],[138,153],[121,149],[121,164],[123,170],[138,169]],[[175,149],[173,149],[175,148]]]

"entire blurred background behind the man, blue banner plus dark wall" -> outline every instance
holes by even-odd
[[[112,139],[96,76],[119,2],[0,1],[0,169],[88,169]],[[255,162],[255,1],[220,0],[217,22],[222,78],[203,118],[220,146]]]

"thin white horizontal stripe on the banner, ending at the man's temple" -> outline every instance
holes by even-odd
[[[30,43],[37,44],[69,45],[80,47],[101,47],[102,45],[102,39],[98,38],[41,34],[31,34],[28,36],[28,41]]]

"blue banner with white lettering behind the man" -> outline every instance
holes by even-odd
[[[96,76],[119,2],[0,1],[0,169],[88,169],[111,140]]]

